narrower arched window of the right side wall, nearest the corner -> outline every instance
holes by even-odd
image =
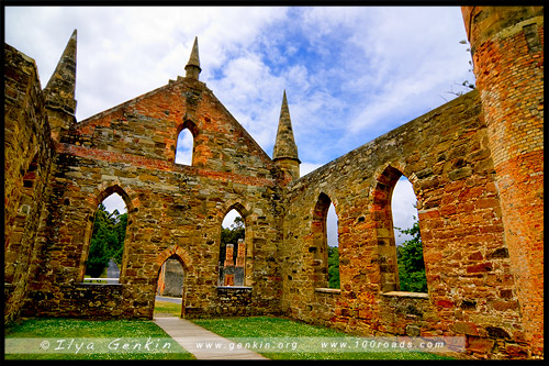
[[[339,288],[339,248],[337,242],[337,214],[325,193],[318,196],[313,211],[313,243],[309,247],[313,260],[313,286]]]

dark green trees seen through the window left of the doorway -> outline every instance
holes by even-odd
[[[119,267],[122,265],[126,225],[127,213],[120,214],[117,210],[109,213],[103,203],[99,203],[86,262],[87,275],[100,277],[111,258]]]

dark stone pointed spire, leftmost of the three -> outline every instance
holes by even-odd
[[[76,48],[77,30],[72,32],[54,74],[44,88],[46,106],[60,108],[70,114],[76,111]]]

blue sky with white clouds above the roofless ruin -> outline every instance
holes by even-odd
[[[7,7],[4,21],[43,87],[78,30],[78,121],[184,76],[198,36],[200,79],[270,156],[285,89],[302,175],[472,80],[458,7]],[[415,198],[400,186],[408,228]]]

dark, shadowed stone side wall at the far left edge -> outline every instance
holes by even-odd
[[[46,197],[53,145],[34,60],[4,45],[4,321],[19,317]]]

